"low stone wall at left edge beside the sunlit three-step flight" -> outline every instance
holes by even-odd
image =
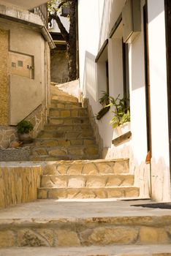
[[[1,165],[0,208],[37,200],[41,174],[40,165]]]

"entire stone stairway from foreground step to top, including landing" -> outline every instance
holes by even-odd
[[[52,92],[31,155],[38,200],[0,210],[0,256],[171,256],[171,211],[134,206],[129,159],[99,159],[87,109]]]

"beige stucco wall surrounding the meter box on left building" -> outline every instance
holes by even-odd
[[[9,74],[10,124],[15,125],[45,100],[45,40],[20,23],[1,20],[0,27],[9,30],[9,52],[34,57],[34,79]]]

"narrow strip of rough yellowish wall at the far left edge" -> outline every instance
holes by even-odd
[[[0,125],[9,122],[8,35],[9,31],[0,29]]]

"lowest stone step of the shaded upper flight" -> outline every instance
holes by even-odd
[[[98,146],[57,146],[57,147],[34,147],[31,149],[31,154],[34,156],[72,156],[72,155],[91,155],[96,156],[99,154]]]

